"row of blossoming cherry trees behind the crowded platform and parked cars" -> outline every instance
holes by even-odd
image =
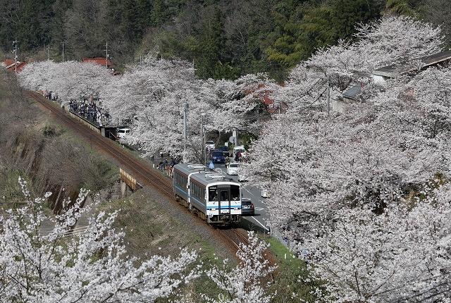
[[[97,96],[113,124],[128,125],[128,144],[139,140],[149,153],[180,154],[187,160],[202,159],[200,113],[206,113],[206,132],[250,130],[258,133],[261,100],[247,97],[249,87],[271,82],[266,75],[247,75],[235,81],[199,80],[192,64],[173,59],[153,61],[152,66],[131,66],[120,77],[92,63],[31,63],[20,73],[27,89],[56,92],[58,99]],[[250,96],[250,95],[249,95]],[[187,141],[183,136],[183,113],[187,110]],[[145,156],[145,154],[144,154]],[[185,158],[185,157],[184,157]]]

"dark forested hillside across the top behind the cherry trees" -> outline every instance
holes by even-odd
[[[200,78],[283,80],[316,49],[352,40],[356,23],[386,13],[450,28],[446,0],[1,0],[0,44],[13,58],[17,40],[20,61],[80,61],[108,49],[120,69],[176,56]]]

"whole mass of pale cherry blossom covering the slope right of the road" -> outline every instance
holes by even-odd
[[[428,68],[384,86],[370,83],[358,102],[328,114],[321,105],[328,85],[330,97],[338,98],[374,68],[414,61],[440,45],[437,29],[408,18],[366,28],[358,44],[324,49],[293,70],[275,93],[288,113],[265,124],[243,169],[272,194],[269,223],[309,252],[313,278],[326,283],[316,290],[320,297],[440,300],[450,289],[449,249],[443,248],[449,228],[440,219],[449,216],[448,189],[414,203],[407,194],[426,194],[438,176],[448,182],[451,70]],[[404,197],[407,206],[397,205]],[[437,224],[425,220],[435,217]]]

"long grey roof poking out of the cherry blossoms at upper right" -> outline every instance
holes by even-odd
[[[421,58],[416,59],[417,61],[420,61],[421,68],[424,68],[426,66],[431,66],[436,63],[440,63],[445,60],[451,59],[451,51],[443,51],[438,54],[428,55]],[[414,65],[411,62],[406,63],[400,63],[400,64],[394,64],[391,66],[385,66],[383,68],[378,68],[376,70],[373,70],[373,75],[381,75],[385,77],[395,77],[396,75],[400,75],[403,73],[409,73],[412,70],[416,70],[418,66]]]

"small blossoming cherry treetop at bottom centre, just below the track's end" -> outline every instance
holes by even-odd
[[[237,256],[240,264],[230,270],[214,266],[206,274],[211,280],[226,292],[218,299],[210,302],[270,302],[276,294],[268,294],[266,288],[273,283],[270,274],[277,266],[270,266],[265,258],[265,251],[269,245],[259,240],[253,232],[248,233],[249,245],[240,244]]]

